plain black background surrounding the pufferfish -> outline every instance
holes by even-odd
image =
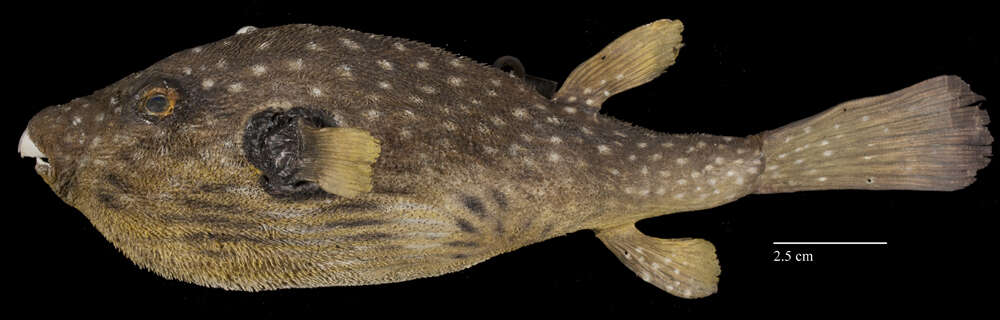
[[[943,3],[942,3],[943,4]],[[31,169],[13,161],[15,137],[38,110],[88,95],[179,50],[244,25],[337,25],[430,43],[481,62],[521,59],[557,81],[620,34],[659,18],[680,19],[677,64],[656,81],[610,99],[602,110],[673,133],[743,136],[850,99],[888,93],[942,74],[961,76],[998,99],[996,23],[985,8],[773,7],[713,10],[602,7],[537,11],[157,3],[6,8],[3,136],[9,153],[3,210],[6,303],[74,314],[250,313],[322,317],[729,313],[804,317],[829,313],[965,312],[990,303],[995,282],[989,223],[998,210],[996,164],[957,192],[827,191],[754,195],[711,210],[642,221],[659,237],[712,241],[719,292],[675,298],[621,265],[589,231],[535,244],[465,271],[398,284],[228,292],[165,280],[135,267],[62,203]],[[866,12],[859,14],[857,12]],[[997,117],[995,102],[984,108]],[[991,131],[998,132],[991,125]],[[888,241],[887,246],[775,246],[773,241]],[[989,248],[989,249],[987,249]],[[775,262],[775,251],[813,254]],[[129,312],[132,311],[132,312]],[[136,311],[141,313],[135,313]],[[200,314],[200,313],[192,313]]]

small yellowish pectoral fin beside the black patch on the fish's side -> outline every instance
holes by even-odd
[[[306,180],[347,198],[371,191],[372,164],[381,147],[367,131],[303,126],[302,142],[302,176]]]

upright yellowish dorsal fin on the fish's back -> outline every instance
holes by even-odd
[[[608,97],[655,79],[677,59],[681,31],[684,24],[667,19],[629,31],[576,67],[556,101],[600,109]]]

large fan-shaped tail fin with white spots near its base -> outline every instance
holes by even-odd
[[[756,193],[964,188],[992,155],[981,101],[962,79],[940,76],[764,132]]]

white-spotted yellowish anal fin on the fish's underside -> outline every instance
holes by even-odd
[[[694,299],[718,291],[715,246],[703,239],[659,239],[634,224],[599,230],[597,238],[640,278],[672,295]]]

